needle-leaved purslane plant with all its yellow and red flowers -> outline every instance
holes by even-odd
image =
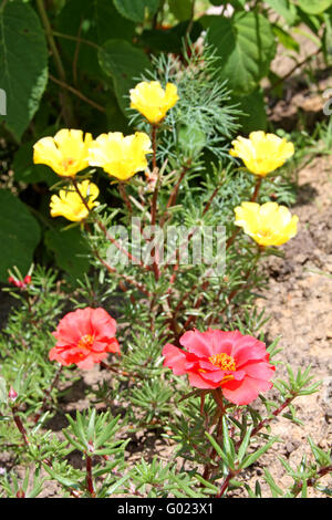
[[[142,115],[132,135],[114,132],[93,139],[81,131],[62,129],[34,145],[34,160],[51,166],[62,179],[51,215],[82,227],[102,290],[82,285],[86,303],[81,298],[74,312],[66,310],[52,322],[42,355],[54,377],[33,409],[34,429],[24,416],[30,394],[21,381],[6,377],[10,388],[3,392],[3,417],[12,422],[17,445],[35,465],[37,477],[43,468],[70,496],[221,498],[237,487],[259,496],[259,485],[252,491],[241,476],[277,441],[269,433],[273,419],[286,414],[297,422],[293,399],[318,388],[309,370],[294,375],[288,367],[289,381],[278,382],[277,342],[264,344],[262,318],[250,310],[264,283],[260,259],[278,254],[277,248],[297,233],[298,218],[288,208],[276,201],[259,204],[264,184],[273,183],[271,176],[293,146],[257,132],[249,139],[238,137],[225,153],[234,116],[227,92],[214,91],[210,59],[203,53],[185,64],[164,63],[165,89],[157,79],[141,81],[128,93],[132,108]],[[196,87],[200,100],[194,96]],[[190,127],[193,108],[198,117]],[[103,194],[94,173],[84,171],[86,165],[106,173],[121,209],[102,204]],[[221,237],[210,236],[217,228]],[[181,236],[172,236],[179,229]],[[167,232],[169,240],[157,240]],[[204,240],[208,246],[201,256]],[[33,283],[27,288],[31,291]],[[31,302],[29,309],[33,312]],[[35,329],[32,333],[40,335]],[[101,381],[103,370],[112,374],[112,383],[101,382],[91,394],[110,407],[116,399],[124,417],[96,414],[92,406],[83,416],[68,417],[64,445],[53,439],[48,454],[37,450],[45,435],[37,428],[46,420],[59,379],[95,365],[101,366]],[[278,397],[269,398],[272,385]],[[128,433],[139,428],[169,439],[170,464],[125,465]],[[253,439],[259,448],[252,447]],[[303,474],[305,483],[293,470],[295,483],[284,496],[305,495],[331,469],[329,454],[319,456],[313,444],[311,448],[315,469]],[[72,449],[82,454],[81,471],[60,456]],[[176,469],[177,457],[184,459],[185,471]],[[272,476],[267,472],[266,479],[274,493]],[[4,487],[9,489],[8,481]]]

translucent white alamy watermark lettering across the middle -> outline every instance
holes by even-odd
[[[132,218],[131,233],[125,226],[112,226],[107,263],[203,266],[206,277],[222,277],[226,259],[225,226],[145,226]]]

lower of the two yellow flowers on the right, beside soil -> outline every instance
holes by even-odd
[[[260,246],[281,246],[297,235],[299,217],[277,202],[242,202],[235,214],[235,223]]]

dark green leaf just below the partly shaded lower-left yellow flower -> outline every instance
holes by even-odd
[[[45,232],[45,246],[54,252],[59,268],[68,272],[74,280],[82,278],[89,270],[86,254],[90,249],[80,229],[50,229]]]

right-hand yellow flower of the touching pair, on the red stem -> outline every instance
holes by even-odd
[[[89,150],[91,166],[101,166],[104,171],[120,180],[126,180],[147,168],[146,154],[152,153],[147,134],[136,132],[123,136],[121,132],[100,135]]]

